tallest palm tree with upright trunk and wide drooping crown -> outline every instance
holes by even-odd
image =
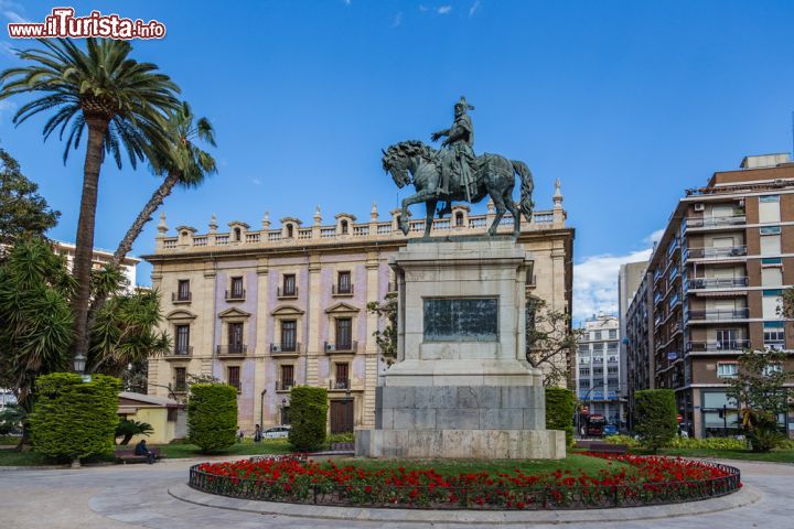
[[[57,130],[63,139],[68,129],[64,163],[88,129],[73,270],[74,353],[85,357],[99,170],[106,154],[120,169],[125,150],[136,168],[138,161],[165,149],[163,115],[179,107],[180,90],[157,65],[129,58],[132,46],[126,41],[87,39],[86,51],[69,40],[39,42],[44,50],[18,51],[20,58],[33,64],[0,73],[0,99],[26,93],[41,96],[23,105],[13,121],[20,125],[40,112],[54,112],[43,134],[46,140]]]

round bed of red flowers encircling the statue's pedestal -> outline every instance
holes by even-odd
[[[190,486],[244,499],[316,505],[452,509],[635,507],[722,496],[741,487],[732,466],[670,457],[599,455],[625,463],[601,469],[527,475],[433,469],[367,471],[354,465],[265,458],[191,467]]]

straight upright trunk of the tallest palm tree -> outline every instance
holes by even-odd
[[[77,237],[72,274],[77,281],[77,291],[72,302],[75,316],[75,356],[88,356],[88,303],[90,302],[90,272],[94,256],[94,225],[96,223],[99,170],[103,162],[107,119],[86,118],[88,142],[83,169],[83,197],[77,220]]]

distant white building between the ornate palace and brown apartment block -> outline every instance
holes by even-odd
[[[620,425],[624,420],[621,389],[620,322],[599,314],[580,328],[577,350],[577,395],[590,414]]]

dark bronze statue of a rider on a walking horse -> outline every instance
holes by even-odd
[[[441,149],[433,149],[421,141],[403,141],[383,151],[383,168],[391,173],[397,187],[414,184],[416,194],[403,201],[399,228],[408,235],[408,206],[425,203],[427,209],[425,237],[436,215],[436,206],[444,202],[439,218],[451,213],[453,202],[476,204],[490,196],[496,207],[496,216],[489,228],[494,235],[505,213],[513,215],[513,233],[521,231],[521,216],[532,222],[534,188],[532,173],[524,162],[508,160],[498,154],[474,154],[474,127],[468,111],[474,110],[464,97],[454,106],[452,127],[430,136],[432,141],[441,138]],[[521,199],[513,201],[515,175],[521,177]]]

